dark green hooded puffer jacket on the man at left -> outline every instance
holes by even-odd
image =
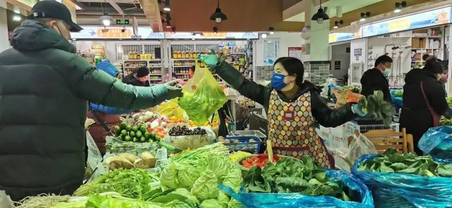
[[[88,102],[143,109],[163,102],[163,85],[134,87],[95,70],[64,37],[25,20],[0,53],[0,190],[13,200],[71,194],[85,173]]]

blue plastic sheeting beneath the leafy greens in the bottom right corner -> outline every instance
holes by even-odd
[[[374,194],[375,207],[452,206],[452,178],[357,171],[359,164],[379,155],[364,155],[352,168],[353,175],[358,176]]]

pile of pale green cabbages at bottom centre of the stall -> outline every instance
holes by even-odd
[[[238,191],[242,184],[242,171],[229,160],[228,152],[227,147],[215,143],[177,154],[162,169],[160,184],[189,190],[201,207],[241,207],[218,188],[222,183]]]

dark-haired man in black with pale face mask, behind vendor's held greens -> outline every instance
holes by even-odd
[[[374,68],[369,69],[362,75],[361,94],[369,96],[374,94],[374,91],[381,90],[384,95],[384,100],[392,102],[391,93],[389,92],[388,75],[391,73],[391,66],[393,59],[391,57],[383,55],[376,59]]]

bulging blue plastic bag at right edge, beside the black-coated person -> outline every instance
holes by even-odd
[[[452,127],[439,126],[430,128],[422,135],[417,147],[425,154],[430,154],[439,162],[452,163]]]

